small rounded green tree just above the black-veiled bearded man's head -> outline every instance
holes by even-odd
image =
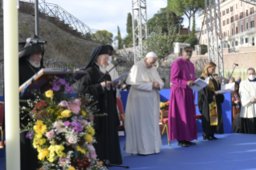
[[[95,34],[91,34],[93,41],[98,41],[103,44],[112,44],[113,34],[108,32],[108,30],[97,30]]]

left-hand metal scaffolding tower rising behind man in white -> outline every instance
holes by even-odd
[[[143,40],[148,39],[146,0],[132,0],[132,34],[134,63],[143,57]]]

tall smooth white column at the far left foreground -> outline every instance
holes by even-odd
[[[6,169],[20,169],[18,96],[18,0],[3,1]]]

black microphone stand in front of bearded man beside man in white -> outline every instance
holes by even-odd
[[[102,75],[100,77],[100,79],[98,80],[98,83],[101,83],[101,80],[104,79],[104,77],[106,75],[108,75],[108,73],[110,71],[112,71],[118,64],[120,64],[120,61],[118,63],[115,64],[114,67],[112,67],[112,69],[110,69],[109,71],[107,71],[104,75]],[[104,79],[104,82],[105,82],[105,86],[107,86],[107,79]],[[108,93],[107,93],[108,89],[107,87],[105,87],[105,103],[104,103],[104,107],[105,107],[105,111],[106,111],[106,114],[107,114],[107,117],[106,117],[106,151],[105,151],[105,154],[106,154],[106,161],[105,161],[105,164],[107,165],[107,168],[110,166],[116,166],[116,167],[123,167],[123,168],[129,168],[129,166],[123,166],[123,165],[118,165],[118,164],[111,164],[110,161],[108,160]]]

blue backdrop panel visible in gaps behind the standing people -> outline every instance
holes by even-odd
[[[120,91],[120,93],[121,93],[121,100],[122,100],[122,103],[124,106],[124,112],[125,112],[129,91]],[[159,93],[161,97],[161,102],[165,102],[166,100],[169,100],[170,89],[163,89],[159,91]],[[226,93],[224,94],[224,96],[225,96],[225,100],[223,103],[221,103],[224,133],[232,133],[231,94]],[[195,93],[194,102],[195,104],[197,104],[197,92]],[[197,111],[197,115],[201,114],[198,110],[198,107],[196,107],[196,111]],[[202,132],[201,119],[197,120],[197,131]]]

